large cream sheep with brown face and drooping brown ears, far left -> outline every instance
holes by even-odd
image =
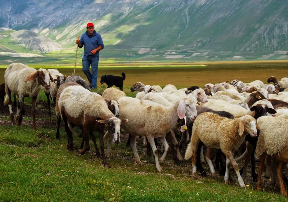
[[[41,91],[41,85],[46,89],[50,89],[50,80],[54,82],[49,71],[46,69],[34,69],[28,67],[22,63],[12,63],[5,70],[5,92],[7,94],[5,98],[5,104],[8,104],[10,110],[10,119],[14,125],[14,115],[12,111],[11,93],[18,96],[18,106],[16,114],[16,124],[21,125],[22,116],[24,112],[24,97],[32,98],[32,128],[36,127],[36,102],[38,94]]]

